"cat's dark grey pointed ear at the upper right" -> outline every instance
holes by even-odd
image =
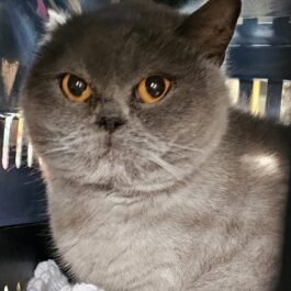
[[[182,22],[177,32],[191,42],[208,58],[222,65],[237,19],[240,0],[210,0]]]

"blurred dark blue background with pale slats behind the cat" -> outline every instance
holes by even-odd
[[[156,0],[181,13],[204,0]],[[35,265],[53,256],[45,188],[18,100],[48,9],[69,13],[117,0],[0,0],[0,291],[20,290]],[[291,0],[243,0],[224,64],[230,102],[251,114],[291,122]],[[222,15],[223,16],[223,15]]]

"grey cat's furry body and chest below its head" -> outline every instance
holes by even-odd
[[[81,186],[57,172],[49,209],[59,253],[78,278],[105,290],[273,290],[286,134],[233,113],[222,146],[199,170],[154,195],[123,198],[119,188]]]

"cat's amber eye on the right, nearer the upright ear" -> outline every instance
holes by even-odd
[[[139,102],[153,104],[163,99],[170,90],[171,81],[161,76],[150,76],[143,79],[136,88]]]

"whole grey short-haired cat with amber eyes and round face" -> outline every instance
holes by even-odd
[[[128,0],[54,27],[22,90],[59,256],[107,291],[269,291],[290,128],[228,104],[239,0]],[[223,16],[222,16],[223,15]]]

